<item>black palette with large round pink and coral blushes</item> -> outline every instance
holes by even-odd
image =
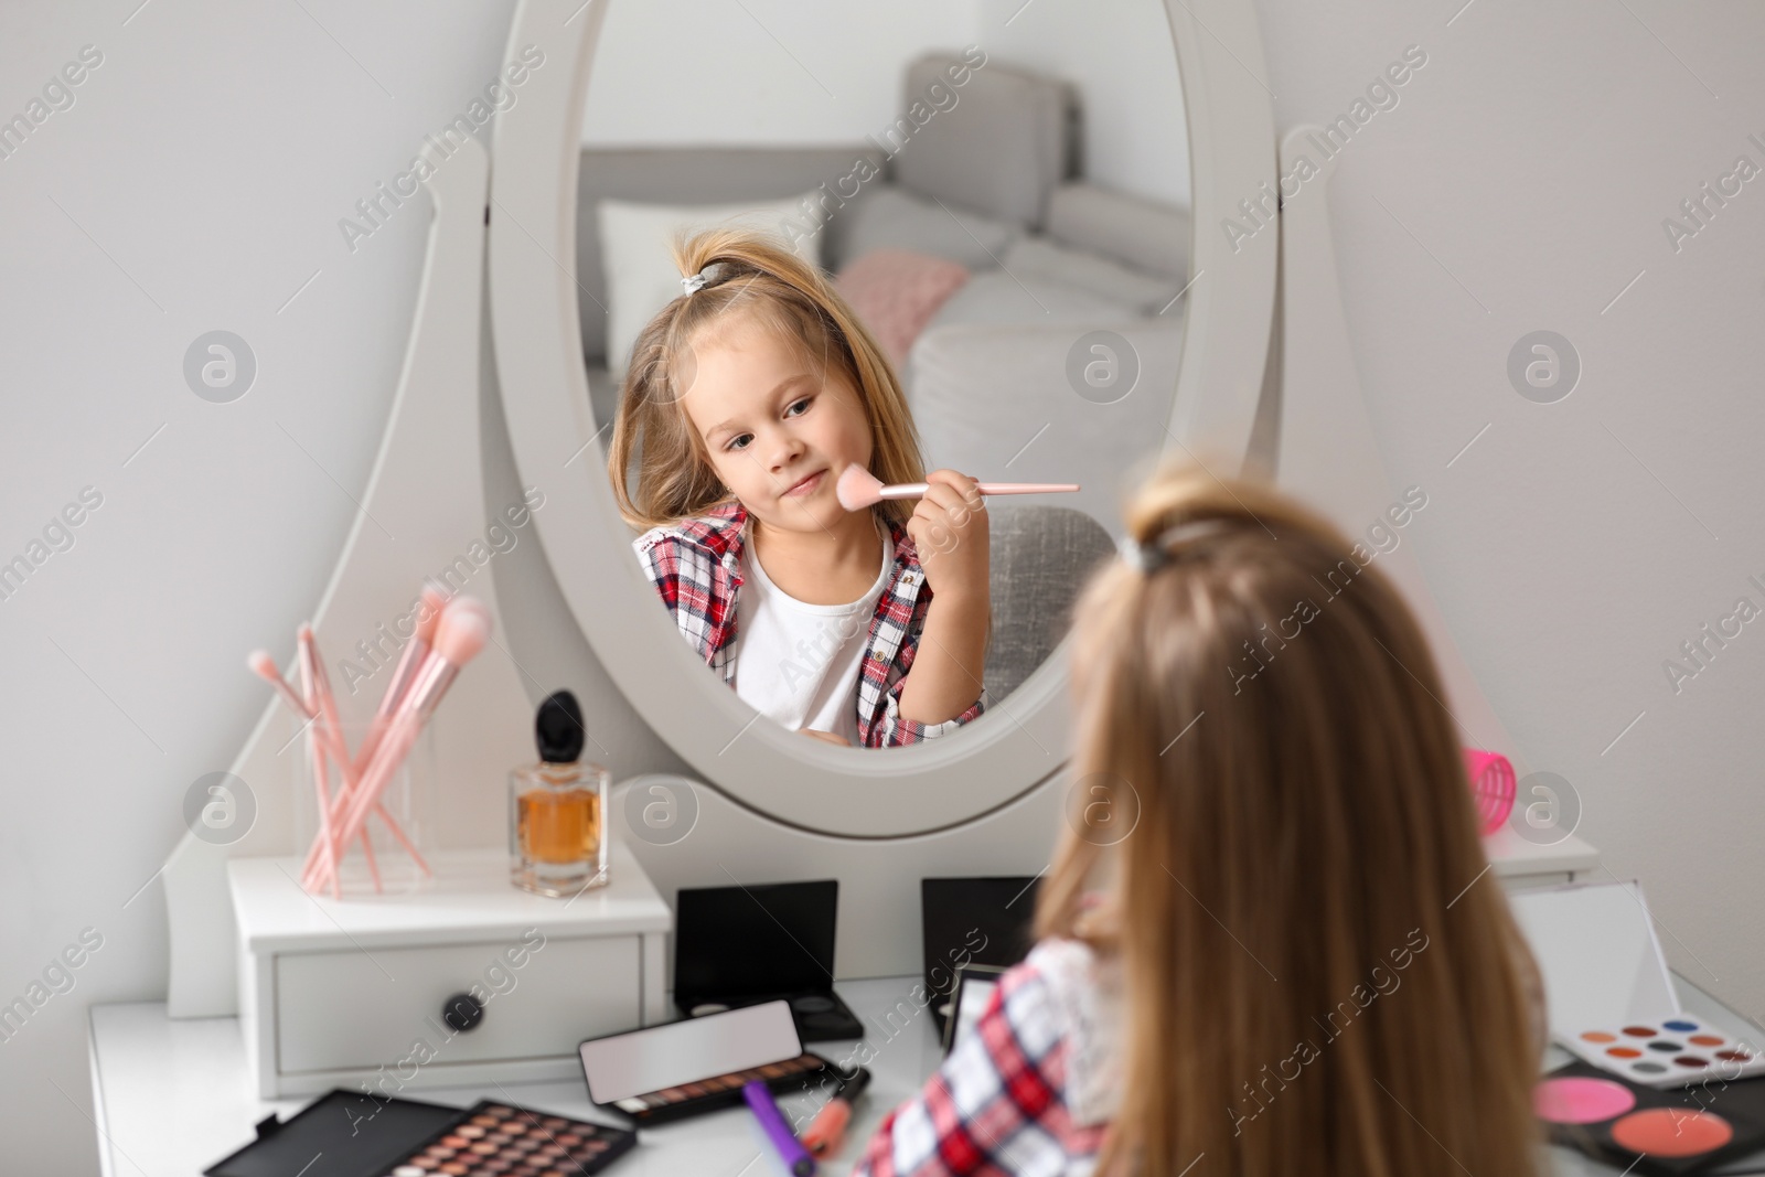
[[[1539,1080],[1532,1106],[1553,1143],[1627,1173],[1686,1177],[1765,1149],[1765,1080],[1659,1091],[1569,1062]]]

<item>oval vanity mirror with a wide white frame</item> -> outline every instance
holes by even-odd
[[[1064,761],[1063,639],[1077,589],[1114,551],[1128,482],[1197,441],[1241,455],[1260,386],[1274,233],[1195,224],[1220,219],[1227,191],[1273,180],[1269,95],[1248,5],[1207,7],[1239,51],[1158,0],[521,5],[514,48],[537,46],[544,65],[499,115],[491,208],[517,464],[547,492],[535,519],[590,644],[736,801],[808,829],[898,836],[1004,805]],[[755,229],[817,266],[891,376],[724,291],[688,344],[715,378],[667,397],[685,439],[667,452],[658,418],[637,413],[655,394],[632,348],[694,296],[669,238],[713,226]],[[623,464],[609,461],[621,409]],[[877,422],[904,418],[879,446]],[[658,436],[650,455],[639,420]],[[923,626],[939,596],[916,607],[916,595],[941,565],[918,549],[937,533],[905,536],[913,501],[845,512],[830,476],[886,475],[870,461],[882,450],[916,459],[897,471],[1078,485],[988,496],[974,584],[992,625],[974,635],[978,658],[935,651],[943,672],[967,667],[967,711],[913,716],[941,734],[907,746],[877,745],[907,731],[890,697],[911,683],[905,665],[932,665]],[[646,478],[692,462],[715,475],[715,510],[621,517],[616,478],[627,503],[653,503]],[[814,476],[785,496],[780,471]],[[711,542],[692,549],[711,552],[701,575],[732,574],[665,582],[710,589],[697,609],[664,603],[658,559],[642,556],[683,535]],[[822,549],[849,575],[805,577]],[[950,628],[930,641],[958,644],[973,630],[951,618],[976,614],[944,600]]]

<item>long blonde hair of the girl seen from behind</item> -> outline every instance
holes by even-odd
[[[1142,542],[1202,521],[1075,609],[1075,778],[1137,813],[1114,863],[1068,828],[1036,911],[1121,963],[1096,1172],[1536,1173],[1532,960],[1419,626],[1267,487],[1165,468],[1128,508]]]

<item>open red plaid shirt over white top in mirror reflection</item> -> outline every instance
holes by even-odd
[[[674,614],[680,632],[725,683],[736,681],[736,598],[741,591],[741,524],[748,512],[731,499],[672,528],[651,528],[632,542],[637,559]],[[890,521],[895,568],[877,600],[858,676],[858,741],[867,748],[921,743],[957,731],[987,706],[981,692],[962,715],[944,723],[900,716],[900,692],[920,632],[932,607],[932,586],[907,529]]]

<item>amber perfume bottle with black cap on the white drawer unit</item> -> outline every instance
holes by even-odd
[[[582,708],[567,690],[533,720],[538,764],[508,773],[508,879],[568,896],[607,882],[607,769],[582,762]]]

